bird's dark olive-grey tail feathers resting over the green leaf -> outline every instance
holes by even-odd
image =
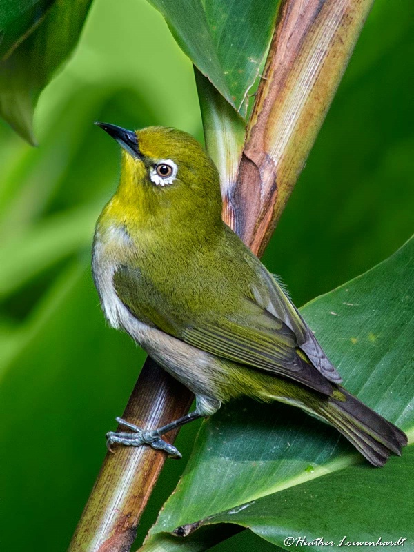
[[[339,387],[318,408],[317,414],[332,424],[374,466],[384,466],[391,453],[401,455],[406,434]]]

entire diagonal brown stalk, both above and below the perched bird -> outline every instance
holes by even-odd
[[[373,0],[283,0],[247,129],[237,179],[221,182],[224,220],[260,255],[279,220],[322,125]],[[228,108],[221,114],[228,117]],[[220,111],[214,113],[218,120]],[[206,115],[208,117],[208,115]],[[228,122],[228,119],[226,119]],[[222,132],[232,132],[224,121]],[[213,138],[206,133],[207,146]],[[211,141],[215,161],[217,144]],[[231,137],[230,137],[231,138]],[[238,141],[235,140],[235,144]],[[234,152],[239,157],[240,152]],[[124,418],[162,426],[190,406],[192,395],[147,360]],[[170,441],[175,435],[170,435]],[[128,552],[164,453],[118,447],[107,455],[70,552]]]

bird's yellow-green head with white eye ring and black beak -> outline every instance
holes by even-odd
[[[126,130],[97,123],[122,148],[115,204],[143,224],[212,224],[221,217],[219,174],[192,136],[150,126]]]

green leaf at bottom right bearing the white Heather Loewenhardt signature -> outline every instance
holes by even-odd
[[[412,552],[413,471],[411,445],[383,469],[351,466],[213,516],[206,524],[241,524],[285,550],[346,546],[368,551],[376,543],[388,548],[388,542]]]

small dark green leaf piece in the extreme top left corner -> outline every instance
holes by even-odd
[[[0,5],[0,59],[8,57],[45,17],[55,0],[3,0]]]

